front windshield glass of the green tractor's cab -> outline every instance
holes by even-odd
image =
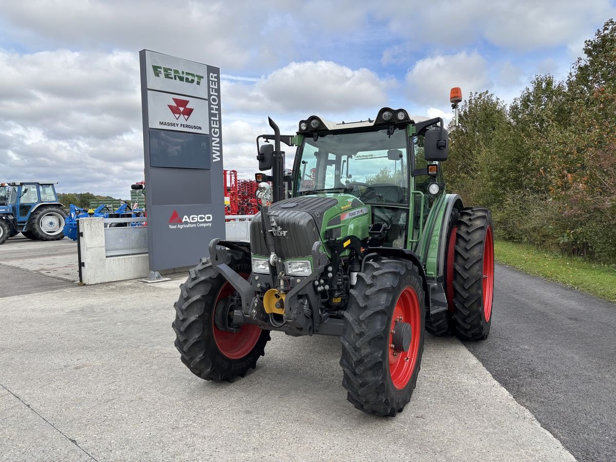
[[[306,137],[298,165],[299,195],[346,192],[364,202],[405,203],[408,152],[405,128]]]

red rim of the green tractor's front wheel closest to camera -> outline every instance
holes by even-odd
[[[394,335],[391,333],[395,330],[395,325],[398,322],[407,322],[411,325],[411,344],[408,351],[394,351]],[[407,386],[408,381],[415,370],[415,363],[419,352],[419,339],[421,338],[421,315],[419,312],[419,300],[417,294],[412,287],[407,287],[402,291],[398,301],[395,303],[394,314],[391,319],[391,328],[389,330],[389,375],[394,386],[401,390]]]

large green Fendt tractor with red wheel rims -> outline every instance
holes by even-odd
[[[348,400],[394,416],[415,389],[426,330],[490,333],[490,211],[446,192],[440,118],[388,107],[357,123],[310,116],[294,136],[269,121],[257,159],[272,176],[256,175],[250,242],[214,239],[180,285],[182,362],[233,381],[256,367],[270,330],[339,336]],[[297,147],[288,175],[281,142]]]

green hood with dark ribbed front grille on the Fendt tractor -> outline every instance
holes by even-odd
[[[276,248],[272,250],[282,259],[309,257],[315,241],[368,237],[370,206],[350,194],[286,199],[270,206],[269,215],[266,230],[274,236]],[[269,255],[260,212],[251,222],[250,242],[254,255]]]

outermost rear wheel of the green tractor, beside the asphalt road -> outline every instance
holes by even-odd
[[[453,264],[453,327],[461,340],[485,340],[492,322],[494,239],[492,214],[469,207],[460,212]]]

